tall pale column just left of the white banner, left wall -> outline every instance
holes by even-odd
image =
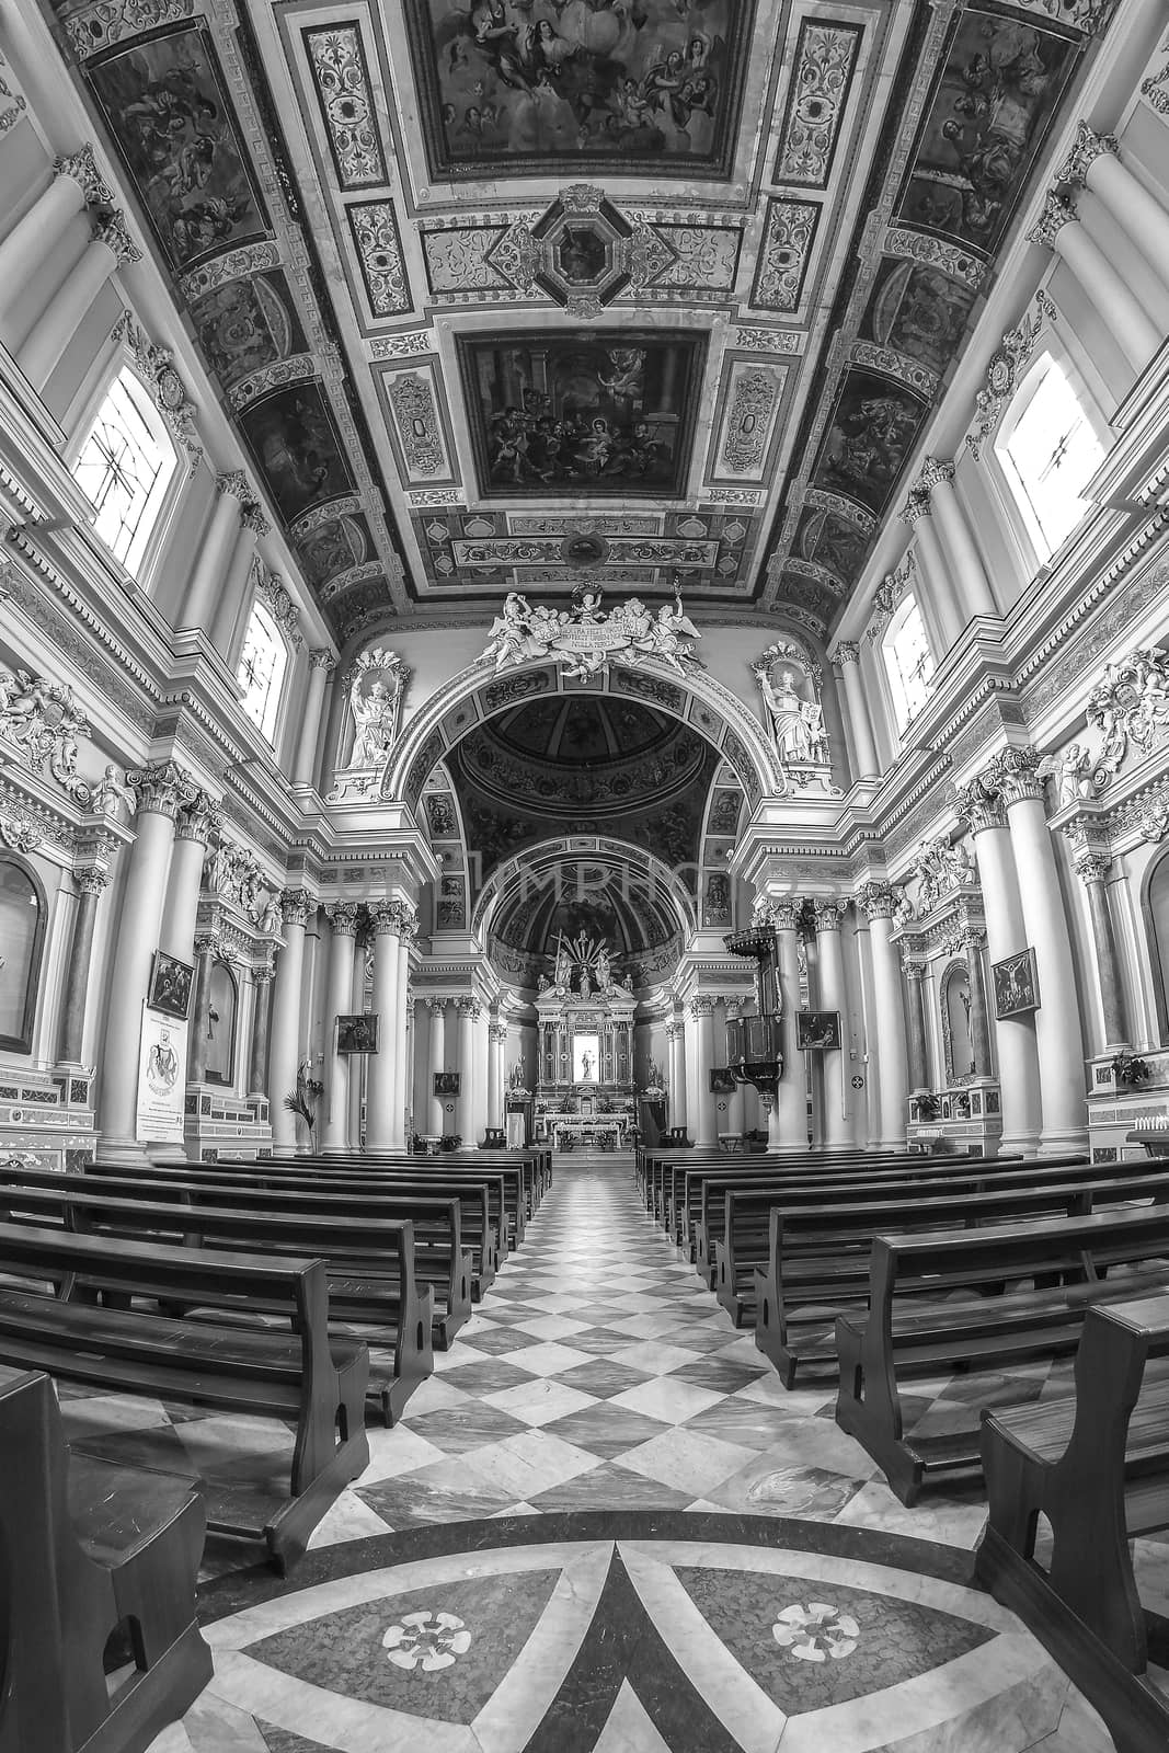
[[[175,813],[195,789],[174,761],[137,768],[126,780],[138,798],[138,833],[126,866],[98,1075],[103,1162],[140,1162],[144,1155],[137,1139],[142,1008],[163,917]]]

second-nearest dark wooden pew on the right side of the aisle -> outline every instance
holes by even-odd
[[[1013,1362],[1074,1350],[1090,1301],[1134,1295],[1134,1280],[1101,1283],[1115,1266],[1139,1271],[1136,1283],[1169,1283],[1169,1210],[1120,1206],[1092,1217],[1038,1218],[992,1229],[917,1231],[876,1236],[869,1264],[868,1315],[836,1317],[840,1390],[836,1422],[885,1471],[903,1504],[927,1478],[978,1471],[971,1423],[946,1434],[904,1434],[901,1380],[910,1371],[1010,1373]],[[1067,1280],[1071,1283],[1050,1283]],[[1087,1285],[1076,1280],[1085,1280]],[[985,1295],[1003,1283],[1048,1288]],[[939,1299],[938,1292],[952,1292]],[[962,1290],[962,1295],[957,1292]],[[969,1399],[969,1387],[964,1392]]]

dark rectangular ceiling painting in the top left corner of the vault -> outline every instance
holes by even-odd
[[[207,30],[184,25],[86,72],[174,270],[266,233]]]

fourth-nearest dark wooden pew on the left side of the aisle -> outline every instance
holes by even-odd
[[[280,1224],[296,1224],[296,1234],[280,1231],[279,1225],[265,1222],[261,1234],[287,1241],[286,1252],[300,1248],[307,1253],[321,1253],[329,1262],[329,1299],[333,1315],[340,1320],[356,1320],[345,1304],[352,1302],[352,1283],[365,1273],[370,1280],[368,1301],[377,1302],[377,1325],[387,1320],[398,1325],[410,1324],[415,1315],[415,1295],[410,1290],[408,1273],[403,1295],[403,1260],[396,1245],[396,1231],[382,1231],[380,1224],[410,1224],[414,1229],[414,1285],[419,1290],[431,1290],[431,1338],[433,1345],[447,1352],[450,1343],[466,1324],[471,1313],[471,1257],[461,1245],[461,1208],[456,1199],[438,1197],[438,1190],[429,1199],[393,1197],[387,1194],[359,1192],[344,1189],[337,1192],[319,1192],[317,1189],[286,1189],[254,1185],[249,1178],[212,1180],[210,1176],[191,1176],[189,1180],[152,1182],[140,1175],[60,1175],[53,1169],[21,1171],[0,1169],[0,1213],[11,1217],[14,1210],[32,1211],[37,1222],[46,1217],[61,1215],[65,1197],[68,1210],[88,1210],[93,1220],[88,1229],[116,1229],[116,1217],[110,1206],[100,1204],[109,1199],[131,1199],[158,1210],[166,1208],[165,1222],[145,1225],[147,1232],[174,1232],[198,1236],[210,1246],[238,1246],[240,1238],[216,1225],[216,1213],[238,1213],[265,1218],[277,1218]],[[98,1213],[105,1211],[105,1217]],[[196,1225],[179,1218],[179,1211],[205,1213]],[[321,1220],[319,1224],[315,1220]],[[77,1225],[82,1227],[82,1225]],[[137,1220],[126,1232],[140,1232],[144,1225]],[[244,1246],[252,1248],[254,1238],[244,1238]],[[389,1252],[387,1252],[389,1248]],[[349,1287],[349,1288],[347,1288]],[[377,1339],[386,1345],[387,1339]],[[414,1364],[408,1352],[401,1357],[403,1367],[412,1374]],[[415,1381],[417,1385],[417,1381]]]

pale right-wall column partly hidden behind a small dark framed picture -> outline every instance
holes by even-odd
[[[959,813],[971,824],[974,836],[987,913],[987,954],[992,962],[1001,962],[1027,947],[1027,926],[1006,810],[994,791],[994,768],[959,794]],[[1001,1148],[1032,1155],[1043,1124],[1036,1027],[1031,1017],[999,1017],[994,1036],[1003,1094]]]

